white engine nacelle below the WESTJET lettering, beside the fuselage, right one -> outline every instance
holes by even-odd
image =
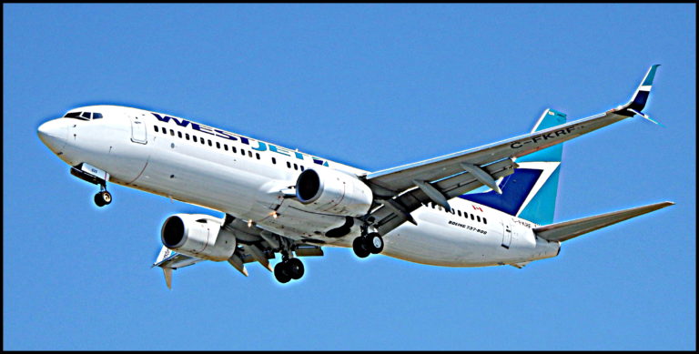
[[[373,194],[360,178],[332,168],[309,168],[296,181],[296,197],[314,211],[362,217]]]

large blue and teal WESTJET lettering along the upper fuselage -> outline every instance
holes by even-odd
[[[293,154],[294,157],[298,158],[299,160],[305,159],[304,156],[309,157],[311,160],[313,160],[313,163],[321,165],[321,166],[328,166],[328,161],[322,160],[319,157],[311,157],[308,154],[301,153],[299,151],[292,151],[289,150],[288,148],[284,147],[277,147],[272,144],[268,144],[253,138],[249,137],[243,137],[239,136],[237,134],[233,134],[230,132],[227,132],[225,130],[217,129],[212,126],[204,126],[202,124],[190,122],[187,119],[182,119],[182,118],[176,118],[174,116],[160,116],[157,113],[151,112],[153,116],[156,116],[157,120],[165,123],[169,123],[172,121],[173,123],[177,124],[177,126],[182,126],[182,127],[187,127],[190,126],[192,129],[197,130],[200,133],[205,133],[212,135],[214,137],[222,137],[224,139],[228,140],[233,140],[233,141],[239,141],[242,144],[248,145],[250,149],[256,150],[256,151],[272,151],[276,152],[278,154],[291,157]]]

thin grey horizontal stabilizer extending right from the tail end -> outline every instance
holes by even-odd
[[[540,228],[534,228],[534,234],[538,237],[549,241],[567,241],[571,238],[577,238],[583,234],[594,231],[599,228],[605,228],[610,225],[622,222],[623,220],[632,217],[638,217],[651,211],[670,207],[673,202],[663,202],[651,204],[643,207],[632,207],[630,209],[613,211],[607,214],[595,215],[594,217],[583,217],[577,220],[565,221],[562,223],[546,225]]]

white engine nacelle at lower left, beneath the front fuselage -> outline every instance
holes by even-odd
[[[221,228],[221,220],[203,214],[167,217],[160,238],[177,253],[208,260],[226,260],[236,250],[236,236]]]

